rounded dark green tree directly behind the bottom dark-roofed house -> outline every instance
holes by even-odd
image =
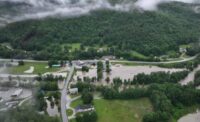
[[[93,95],[88,90],[82,92],[82,100],[84,104],[91,104],[93,101]]]

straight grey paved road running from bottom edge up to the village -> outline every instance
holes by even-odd
[[[66,114],[66,104],[67,104],[67,86],[71,80],[74,72],[74,65],[71,67],[67,78],[65,79],[65,84],[63,90],[61,91],[61,115],[63,122],[68,122],[68,117]]]

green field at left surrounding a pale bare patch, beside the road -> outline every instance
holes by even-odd
[[[34,67],[34,71],[32,74],[45,73],[45,72],[53,72],[59,70],[59,68],[45,68],[47,63],[43,62],[25,62],[23,66],[15,66],[8,68],[8,72],[12,74],[24,74],[24,71],[28,70],[31,66]]]

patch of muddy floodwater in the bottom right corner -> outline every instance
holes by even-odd
[[[200,111],[197,110],[196,113],[187,114],[181,117],[178,122],[200,122]]]

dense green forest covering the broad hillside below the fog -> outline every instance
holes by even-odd
[[[74,18],[27,20],[0,29],[0,56],[5,58],[88,59],[115,55],[129,60],[154,60],[191,44],[199,52],[200,14],[192,5],[169,3],[159,11],[93,11]],[[71,49],[70,44],[80,47]],[[99,50],[97,47],[105,47]],[[143,55],[135,56],[133,52]]]

